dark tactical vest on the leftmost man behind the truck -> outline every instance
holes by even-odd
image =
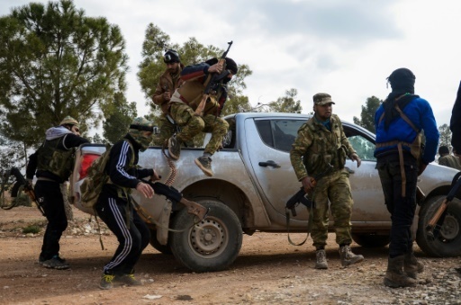
[[[76,148],[59,149],[58,146],[62,144],[64,137],[43,142],[39,148],[37,170],[48,171],[66,181],[72,173]]]

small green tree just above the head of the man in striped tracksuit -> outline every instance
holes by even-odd
[[[115,94],[113,105],[116,111],[107,116],[103,123],[104,139],[113,144],[128,131],[131,121],[138,115],[136,103],[128,103],[122,93]]]

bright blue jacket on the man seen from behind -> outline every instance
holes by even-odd
[[[384,107],[383,104],[381,104],[375,113],[376,143],[384,143],[393,140],[412,143],[417,133],[400,116],[391,122],[389,130],[384,130],[384,120],[379,122],[383,112]],[[417,97],[405,106],[403,113],[405,113],[416,128],[424,130],[426,143],[422,155],[422,162],[424,164],[429,164],[435,159],[439,138],[437,123],[432,108],[430,108],[428,101]],[[375,156],[388,150],[395,150],[396,148],[396,145],[376,148]],[[403,148],[410,150],[410,148],[407,147]]]

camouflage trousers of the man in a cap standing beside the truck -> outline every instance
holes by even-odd
[[[354,202],[348,172],[343,169],[322,177],[313,190],[312,199],[315,202],[311,229],[313,246],[324,247],[327,244],[330,211],[334,219],[337,244],[350,244],[350,215]]]

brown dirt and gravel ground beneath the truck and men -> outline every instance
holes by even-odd
[[[98,236],[88,217],[74,209],[74,218],[61,239],[61,254],[69,270],[51,270],[36,263],[43,229],[23,234],[23,228],[46,220],[35,208],[0,210],[1,304],[461,304],[460,258],[430,258],[419,248],[416,255],[426,265],[419,284],[410,289],[384,287],[387,248],[366,249],[353,244],[365,256],[360,265],[339,263],[334,234],[330,234],[328,270],[313,269],[312,240],[291,246],[285,233],[244,236],[240,256],[230,269],[195,274],[173,256],[148,247],[137,265],[139,287],[98,288],[103,265],[117,246],[111,233]],[[304,234],[293,234],[301,241]],[[307,245],[309,244],[309,245]],[[306,246],[307,245],[307,246]]]

